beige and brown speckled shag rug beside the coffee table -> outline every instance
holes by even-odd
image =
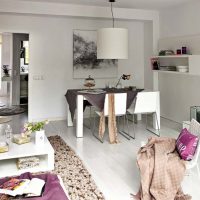
[[[55,170],[60,175],[71,200],[104,200],[81,159],[60,136],[48,137],[55,150]]]

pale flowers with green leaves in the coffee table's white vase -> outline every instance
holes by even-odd
[[[21,135],[22,137],[28,137],[31,135],[32,132],[43,130],[44,126],[48,123],[49,123],[48,120],[36,122],[36,123],[33,123],[33,122],[25,123]]]

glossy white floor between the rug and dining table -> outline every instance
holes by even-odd
[[[26,120],[26,116],[14,117],[12,126],[14,132],[20,130],[20,126]],[[180,124],[162,119],[161,136],[177,137],[181,128]],[[3,132],[4,126],[1,131]],[[50,122],[46,127],[46,134],[60,135],[71,146],[85,166],[92,174],[96,184],[104,193],[106,200],[129,200],[130,193],[136,193],[140,178],[136,166],[136,154],[141,141],[146,141],[153,136],[145,130],[144,123],[136,125],[136,139],[127,140],[119,135],[120,143],[111,145],[108,139],[102,144],[92,136],[89,129],[84,128],[84,138],[75,137],[75,127],[67,127],[66,121]],[[199,200],[200,177],[194,169],[190,176],[185,176],[183,190],[190,194],[193,200]]]

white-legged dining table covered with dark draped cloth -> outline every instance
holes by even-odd
[[[144,89],[129,88],[101,88],[101,89],[68,89],[65,97],[67,100],[67,125],[74,126],[74,118],[76,115],[76,137],[83,137],[83,112],[86,106],[85,102],[89,102],[99,111],[104,109],[104,101],[106,94],[110,93],[127,93],[127,109],[134,102],[137,93]],[[87,101],[84,101],[87,100]],[[160,115],[159,115],[160,116]],[[156,124],[156,123],[154,123]]]

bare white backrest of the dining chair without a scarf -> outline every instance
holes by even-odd
[[[156,92],[138,92],[136,97],[134,113],[153,113],[156,111],[160,93]]]

